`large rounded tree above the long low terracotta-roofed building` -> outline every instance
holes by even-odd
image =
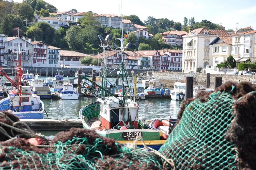
[[[84,35],[82,33],[82,28],[75,25],[71,26],[71,28],[67,30],[65,39],[70,49],[83,49]]]

